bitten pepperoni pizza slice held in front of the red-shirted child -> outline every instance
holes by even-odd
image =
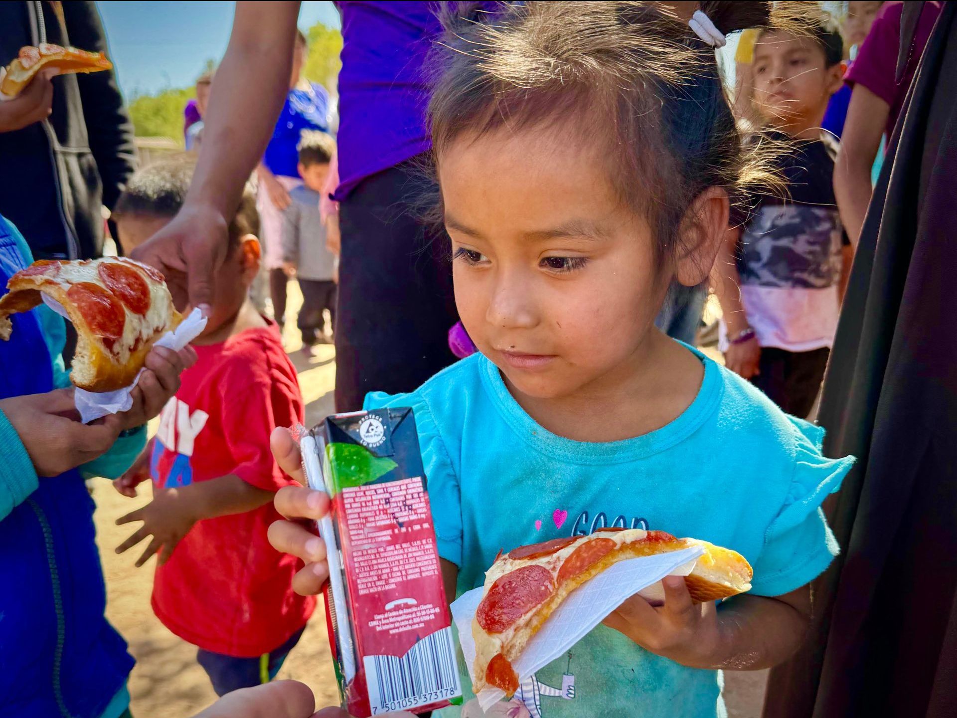
[[[7,288],[0,299],[0,339],[10,339],[11,314],[33,309],[46,294],[77,329],[70,378],[89,392],[132,384],[153,343],[183,319],[163,275],[133,259],[40,259],[14,274]]]

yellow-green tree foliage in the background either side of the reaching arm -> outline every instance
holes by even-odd
[[[302,68],[302,75],[313,82],[320,82],[336,90],[336,77],[342,62],[343,35],[334,28],[317,23],[309,28],[309,54]],[[206,61],[203,71],[214,66]],[[196,73],[199,77],[200,73]],[[129,101],[129,114],[137,137],[169,137],[183,143],[183,109],[196,97],[195,87],[167,88],[152,95],[136,95]]]

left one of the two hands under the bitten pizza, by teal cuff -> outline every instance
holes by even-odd
[[[96,459],[123,429],[116,414],[81,423],[73,389],[11,396],[0,400],[0,412],[23,442],[37,476],[57,476]]]

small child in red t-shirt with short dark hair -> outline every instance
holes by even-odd
[[[179,210],[191,171],[167,161],[130,180],[115,212],[124,252]],[[230,225],[209,324],[193,343],[198,361],[183,372],[151,447],[116,482],[136,496],[136,484],[152,477],[153,501],[117,522],[144,522],[117,552],[152,537],[136,565],[159,554],[153,611],[199,647],[219,695],[271,680],[315,607],[292,590],[296,560],[266,539],[279,518],[273,495],[293,483],[273,459],[269,435],[300,422],[303,405],[276,325],[248,298],[259,269],[257,225],[247,193]]]

